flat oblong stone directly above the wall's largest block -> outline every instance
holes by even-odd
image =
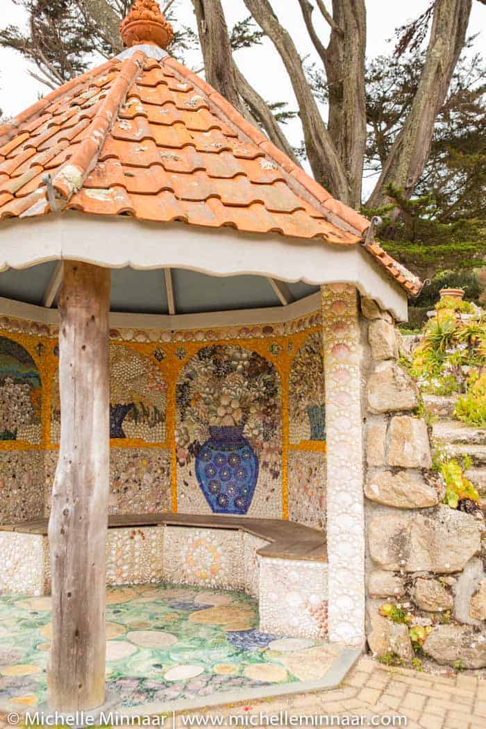
[[[423,509],[436,506],[439,495],[418,472],[382,471],[367,478],[364,493],[372,501],[397,509]]]

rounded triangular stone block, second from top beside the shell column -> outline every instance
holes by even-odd
[[[396,413],[418,406],[418,389],[412,378],[393,360],[380,362],[369,378],[368,407],[372,413]]]

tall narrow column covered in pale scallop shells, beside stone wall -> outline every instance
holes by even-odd
[[[329,642],[364,642],[364,497],[358,292],[322,286]]]

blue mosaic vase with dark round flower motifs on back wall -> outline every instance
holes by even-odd
[[[215,514],[246,514],[258,480],[258,458],[243,426],[210,426],[196,459],[196,477]]]

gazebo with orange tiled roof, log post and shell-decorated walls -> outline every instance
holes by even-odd
[[[136,0],[122,38],[0,127],[0,456],[16,475],[0,523],[39,539],[15,587],[52,580],[50,705],[66,711],[104,701],[109,512],[166,530],[163,564],[144,577],[109,556],[111,584],[224,586],[217,534],[237,529],[264,628],[363,647],[364,324],[393,329],[421,286],[171,57],[156,3]]]

